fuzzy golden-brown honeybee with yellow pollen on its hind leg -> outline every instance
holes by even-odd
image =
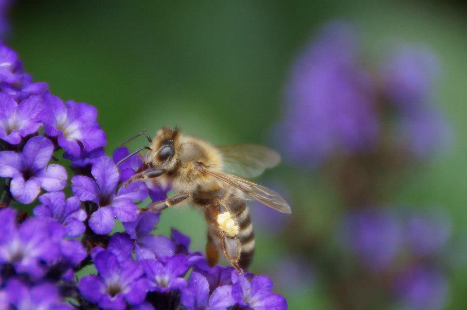
[[[143,167],[128,181],[154,179],[162,187],[171,186],[177,194],[154,202],[140,212],[162,211],[182,202],[201,209],[207,221],[206,258],[215,265],[222,251],[241,272],[248,268],[254,253],[253,226],[245,199],[251,197],[279,212],[291,213],[290,206],[275,191],[242,177],[255,177],[280,162],[280,155],[260,145],[242,144],[215,147],[177,128],[163,127],[154,139],[143,132],[149,147]],[[122,144],[123,144],[122,143]]]

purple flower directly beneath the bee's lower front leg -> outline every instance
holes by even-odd
[[[159,222],[160,212],[144,212],[134,222],[124,223],[125,231],[135,244],[136,259],[165,259],[175,254],[175,244],[165,236],[151,232]]]

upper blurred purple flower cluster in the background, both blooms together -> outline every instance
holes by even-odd
[[[446,142],[447,126],[431,105],[438,64],[430,51],[401,45],[376,72],[365,65],[358,33],[344,22],[325,26],[301,53],[276,128],[291,161],[318,165],[374,150],[388,136],[393,147],[415,157]]]

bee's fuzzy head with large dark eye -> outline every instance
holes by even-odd
[[[154,167],[170,170],[176,163],[180,131],[178,128],[162,127],[151,143],[146,162]]]

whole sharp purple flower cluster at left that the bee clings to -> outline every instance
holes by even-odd
[[[137,204],[168,189],[126,182],[142,157],[117,168],[128,150],[104,154],[95,107],[34,83],[2,44],[0,58],[0,309],[287,309],[269,277],[211,268],[175,229],[154,235],[160,214]],[[125,232],[109,235],[116,219]]]

